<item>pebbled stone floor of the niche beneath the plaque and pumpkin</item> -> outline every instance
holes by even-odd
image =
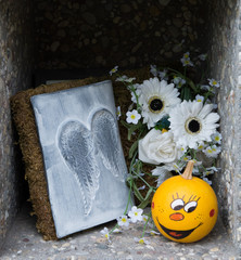
[[[87,231],[83,231],[60,240],[43,240],[30,217],[30,207],[24,205],[17,214],[5,243],[0,251],[1,260],[186,260],[186,259],[241,259],[233,248],[221,221],[218,220],[208,236],[192,244],[179,244],[162,235],[145,233],[149,244],[139,244],[135,237],[141,237],[143,224],[130,224],[123,233],[113,234],[111,242],[100,234],[112,221]]]

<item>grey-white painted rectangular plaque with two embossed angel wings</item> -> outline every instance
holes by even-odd
[[[128,200],[110,80],[31,98],[59,238],[111,221]]]

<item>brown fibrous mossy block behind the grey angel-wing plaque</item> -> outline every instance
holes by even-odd
[[[128,70],[124,72],[124,74],[129,77],[136,77],[137,82],[142,82],[144,79],[151,77],[148,68]],[[21,91],[11,98],[13,120],[20,138],[18,143],[25,164],[25,178],[29,186],[29,199],[33,205],[33,213],[37,216],[36,227],[43,235],[43,239],[48,240],[58,238],[48,196],[42,152],[38,139],[30,98],[37,94],[51,93],[54,91],[103,81],[106,79],[111,79],[113,82],[115,104],[116,106],[119,105],[122,107],[122,113],[125,117],[125,112],[128,109],[128,106],[131,102],[130,94],[122,82],[115,81],[115,76],[71,80],[67,82],[53,83],[49,86],[41,84],[36,89]],[[119,125],[119,132],[125,159],[128,166],[128,152],[131,143],[127,141],[127,131],[122,125]]]

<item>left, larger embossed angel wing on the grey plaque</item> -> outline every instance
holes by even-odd
[[[68,121],[61,128],[59,148],[79,184],[85,214],[89,214],[100,176],[91,132],[79,121]]]

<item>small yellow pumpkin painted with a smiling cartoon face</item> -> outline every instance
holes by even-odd
[[[206,236],[217,220],[217,198],[202,179],[192,177],[193,161],[185,172],[164,181],[152,199],[152,218],[167,238],[192,243]]]

